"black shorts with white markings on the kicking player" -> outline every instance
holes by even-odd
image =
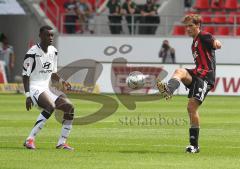
[[[195,98],[202,104],[212,87],[206,80],[194,75],[191,69],[186,70],[192,76],[192,83],[185,85],[189,89],[188,98]]]

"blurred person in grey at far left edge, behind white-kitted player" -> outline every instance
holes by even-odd
[[[15,63],[13,47],[9,45],[8,38],[2,34],[0,42],[0,60],[5,64],[5,72],[8,82],[12,80],[12,72]]]

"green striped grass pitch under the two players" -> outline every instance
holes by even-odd
[[[101,107],[89,101],[72,101],[76,116]],[[239,97],[206,98],[200,109],[199,154],[184,152],[189,127],[186,96],[169,102],[139,102],[134,111],[119,103],[110,117],[73,127],[68,140],[73,152],[55,149],[61,125],[52,116],[37,136],[33,151],[22,143],[39,110],[27,112],[23,95],[1,94],[0,169],[236,169],[240,157],[239,103]]]

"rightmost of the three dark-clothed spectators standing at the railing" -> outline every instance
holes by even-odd
[[[157,10],[158,5],[155,3],[155,0],[147,0],[143,9],[141,10],[141,24],[139,33],[140,34],[155,34],[158,24],[160,23],[160,18],[158,16]],[[149,24],[149,25],[147,25]]]

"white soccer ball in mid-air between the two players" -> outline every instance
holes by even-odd
[[[145,84],[145,76],[138,71],[131,72],[126,79],[126,83],[131,89],[139,89]]]

